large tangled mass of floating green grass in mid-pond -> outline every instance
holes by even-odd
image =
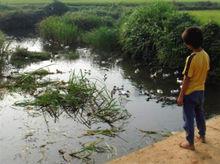
[[[46,72],[38,70],[21,74],[10,84],[10,88],[19,88],[32,94],[38,88],[45,88],[40,94],[34,95],[34,99],[16,105],[33,106],[37,110],[49,113],[55,120],[65,112],[87,127],[99,122],[114,127],[113,123],[130,117],[127,110],[121,109],[117,101],[111,98],[105,87],[97,88],[97,82],[90,82],[82,72],[78,76],[73,73],[68,82],[41,82],[38,80],[42,78],[40,75],[46,75]]]

